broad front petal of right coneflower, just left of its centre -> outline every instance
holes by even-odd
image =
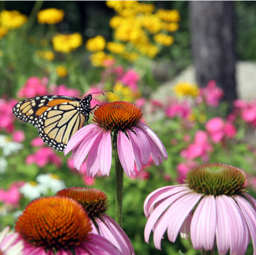
[[[191,220],[191,241],[195,250],[212,250],[215,240],[216,203],[214,195],[205,196]]]

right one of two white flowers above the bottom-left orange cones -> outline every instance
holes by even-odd
[[[36,181],[47,189],[50,189],[53,193],[66,188],[65,183],[60,180],[60,177],[52,173],[40,174],[37,176]]]

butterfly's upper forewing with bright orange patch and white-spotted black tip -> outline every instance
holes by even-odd
[[[28,122],[37,128],[40,116],[50,107],[65,102],[80,101],[71,96],[37,96],[23,100],[12,108],[12,113],[17,119]]]

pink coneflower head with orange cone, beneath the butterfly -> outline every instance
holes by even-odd
[[[119,160],[127,176],[135,174],[135,163],[140,171],[148,163],[150,155],[158,166],[163,159],[167,160],[167,152],[155,132],[141,119],[142,112],[132,103],[106,103],[95,110],[95,124],[81,128],[72,136],[64,154],[72,151],[76,169],[80,169],[87,160],[87,176],[93,177],[99,170],[103,175],[109,175],[113,139],[113,146],[117,146]]]

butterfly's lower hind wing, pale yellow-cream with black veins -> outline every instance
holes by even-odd
[[[79,102],[65,102],[47,109],[38,120],[39,136],[56,151],[63,151],[69,139],[89,118],[89,110],[80,113]]]

